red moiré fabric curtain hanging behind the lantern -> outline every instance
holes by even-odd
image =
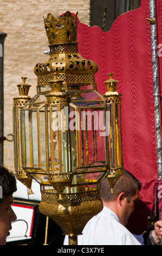
[[[157,2],[158,24],[162,31],[162,3]],[[95,75],[98,92],[106,92],[104,81],[109,78],[108,72],[114,72],[113,78],[119,81],[116,90],[122,94],[124,168],[142,182],[139,201],[128,226],[136,234],[141,234],[147,226],[147,217],[153,208],[153,187],[158,178],[148,17],[149,2],[141,0],[138,9],[119,16],[108,32],[80,22],[77,25],[79,53],[94,60],[99,67]],[[158,35],[161,40],[162,33]],[[161,71],[161,61],[159,65]]]

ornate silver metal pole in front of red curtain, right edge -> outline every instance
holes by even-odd
[[[155,116],[155,135],[157,145],[157,168],[158,179],[161,179],[162,153],[161,153],[161,104],[160,104],[160,86],[159,86],[159,61],[158,61],[158,37],[157,37],[157,13],[156,1],[149,0],[151,27],[151,52],[152,52],[152,74],[153,74],[153,98],[154,98],[154,116]]]

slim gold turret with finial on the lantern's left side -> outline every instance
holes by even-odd
[[[14,153],[15,153],[15,171],[16,178],[20,180],[25,186],[29,188],[29,194],[32,194],[31,183],[32,178],[23,169],[24,159],[22,157],[22,147],[21,147],[21,118],[20,118],[20,108],[25,105],[30,100],[28,96],[30,85],[25,83],[27,77],[22,77],[22,83],[18,84],[19,95],[14,98],[13,107],[13,126],[14,126]]]

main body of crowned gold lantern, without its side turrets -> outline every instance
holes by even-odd
[[[69,235],[69,245],[102,210],[108,141],[119,128],[108,133],[113,107],[96,91],[98,66],[77,50],[76,19],[69,11],[44,19],[50,56],[36,64],[37,94],[20,111],[23,169],[40,184],[40,211]],[[121,168],[112,168],[114,180]]]

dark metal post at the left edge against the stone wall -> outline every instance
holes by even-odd
[[[3,95],[3,54],[4,39],[7,34],[0,32],[0,164],[3,164],[3,137],[4,137],[4,95]]]

